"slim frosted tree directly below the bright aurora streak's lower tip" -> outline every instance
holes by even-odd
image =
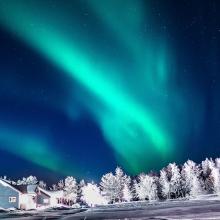
[[[167,172],[165,169],[160,171],[159,185],[161,196],[164,199],[170,199],[170,182],[167,179]]]

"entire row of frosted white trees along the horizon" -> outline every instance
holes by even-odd
[[[46,183],[30,176],[14,184]],[[65,199],[89,206],[137,200],[193,198],[200,194],[220,193],[220,158],[206,159],[200,164],[188,160],[182,166],[170,163],[159,173],[141,173],[136,178],[126,175],[119,167],[102,176],[101,182],[77,182],[72,176],[60,180],[49,190],[63,190]]]

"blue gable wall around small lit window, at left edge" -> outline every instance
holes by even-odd
[[[16,202],[9,202],[9,197],[16,197]],[[19,192],[2,182],[0,182],[0,207],[19,208]]]

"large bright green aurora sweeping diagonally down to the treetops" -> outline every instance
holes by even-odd
[[[175,60],[169,42],[163,36],[155,38],[153,30],[140,39],[146,19],[141,1],[92,0],[87,4],[119,49],[124,48],[122,60],[128,57],[129,67],[102,54],[101,45],[94,50],[95,36],[88,37],[77,18],[49,7],[46,1],[1,1],[0,23],[80,85],[77,98],[99,124],[119,164],[131,173],[143,171],[155,160],[166,164],[176,154],[172,109],[185,110],[184,98],[172,85]],[[130,8],[136,9],[135,16],[130,16]],[[154,25],[150,16],[149,24]],[[63,110],[71,115],[71,100]],[[45,157],[50,151],[44,144],[30,147]],[[27,144],[24,148],[28,156]],[[33,163],[58,169],[61,159],[44,163],[33,158]]]

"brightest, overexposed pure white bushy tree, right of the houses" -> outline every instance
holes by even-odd
[[[82,188],[81,200],[88,206],[94,207],[95,205],[105,205],[107,201],[101,195],[99,187],[94,183],[88,183]]]

